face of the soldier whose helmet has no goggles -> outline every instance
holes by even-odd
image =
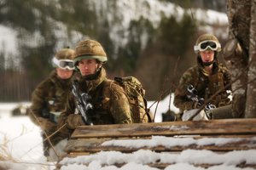
[[[82,76],[88,76],[96,73],[99,64],[96,59],[82,59],[79,61],[79,71]]]

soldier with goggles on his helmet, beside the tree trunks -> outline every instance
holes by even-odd
[[[195,42],[194,50],[197,54],[197,65],[185,71],[180,78],[175,91],[174,105],[180,109],[183,121],[186,121],[195,113],[195,111],[189,110],[200,108],[213,94],[215,95],[218,90],[221,90],[209,103],[205,104],[212,107],[207,109],[208,113],[206,114],[206,110],[201,111],[194,120],[224,118],[226,117],[224,112],[231,110],[230,94],[227,92],[227,90],[231,90],[231,86],[229,71],[224,65],[218,63],[221,45],[217,37],[212,34],[203,34]],[[210,111],[217,110],[213,108],[223,108],[224,110],[221,111],[221,114],[212,117]]]

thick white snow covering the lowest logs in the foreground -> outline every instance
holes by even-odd
[[[118,164],[129,164],[134,163],[142,166],[142,164],[148,163],[169,163],[169,164],[181,164],[189,165],[191,164],[223,164],[220,169],[227,169],[229,167],[236,167],[237,164],[246,162],[247,164],[254,163],[256,156],[256,150],[241,150],[241,151],[230,151],[224,154],[214,153],[211,150],[183,150],[181,153],[157,153],[151,150],[137,150],[133,153],[125,154],[118,151],[102,151],[90,156],[77,156],[75,158],[64,158],[60,163],[67,165],[63,166],[61,169],[71,169],[73,164],[89,164],[88,167],[92,167],[91,164],[95,164],[97,168],[102,165],[113,166],[114,163]],[[69,167],[70,166],[70,167]],[[172,169],[170,165],[166,169]],[[84,167],[87,167],[84,165]],[[145,166],[146,167],[146,166]],[[179,167],[181,169],[181,167]],[[85,169],[85,168],[84,168]],[[96,167],[89,168],[96,169]],[[102,168],[104,169],[104,168]],[[120,168],[120,169],[123,169]],[[124,168],[126,169],[126,168]],[[139,169],[138,167],[133,167],[132,169]],[[145,168],[147,169],[147,168]],[[150,168],[148,168],[150,169]],[[194,167],[194,169],[202,169],[201,167]],[[209,168],[210,169],[210,168]],[[240,168],[237,168],[240,169]],[[242,169],[242,168],[241,168]],[[252,169],[252,168],[244,168]]]

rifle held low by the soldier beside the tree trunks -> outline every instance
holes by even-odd
[[[188,88],[187,88],[187,97],[189,99],[191,99],[192,101],[196,101],[199,103],[199,105],[205,105],[205,99],[203,98],[199,98],[198,95],[197,95],[197,90],[194,88],[194,86],[192,84],[189,84]],[[215,105],[212,105],[210,103],[208,103],[207,105],[205,105],[204,107],[204,111],[206,112],[207,114],[207,117],[209,119],[211,119],[211,116],[208,114],[210,110],[212,109],[215,109],[216,106]]]

